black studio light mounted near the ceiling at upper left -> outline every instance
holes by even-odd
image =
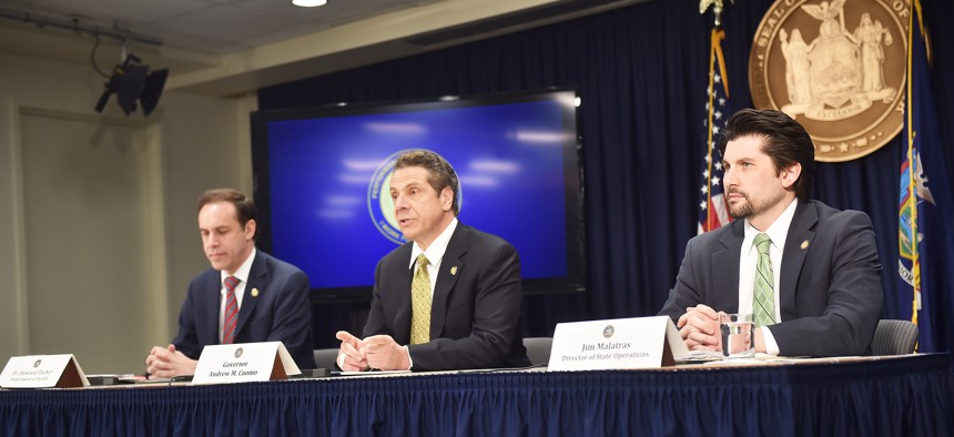
[[[110,95],[115,93],[124,114],[135,112],[136,100],[142,105],[143,115],[152,113],[159,104],[169,70],[149,72],[149,65],[141,65],[140,62],[139,58],[130,53],[122,64],[113,68],[110,81],[105,83],[106,89],[97,102],[97,112],[103,112]]]

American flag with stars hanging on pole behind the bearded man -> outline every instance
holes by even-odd
[[[699,200],[699,233],[712,231],[732,221],[722,195],[722,156],[716,149],[719,133],[732,114],[729,106],[729,83],[725,79],[725,58],[722,40],[725,31],[712,29],[709,51],[709,84],[706,87],[706,128],[708,145],[702,154],[702,187]]]

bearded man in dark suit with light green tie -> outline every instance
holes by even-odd
[[[676,321],[693,350],[721,350],[725,312],[754,315],[755,352],[870,352],[883,293],[874,230],[862,212],[809,201],[809,134],[782,112],[742,110],[719,150],[735,221],[689,241],[659,314]]]

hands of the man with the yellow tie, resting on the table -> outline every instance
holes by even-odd
[[[373,335],[361,339],[346,331],[335,337],[342,341],[338,367],[345,372],[409,370],[410,355],[407,346],[397,344],[389,335]]]

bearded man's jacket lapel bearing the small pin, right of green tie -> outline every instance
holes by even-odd
[[[785,236],[785,247],[782,252],[782,272],[779,276],[779,301],[781,304],[782,321],[791,321],[798,317],[795,309],[795,289],[799,285],[799,273],[805,264],[809,254],[808,248],[815,237],[814,227],[819,221],[819,214],[809,203],[799,202],[792,224],[789,226],[789,235]],[[804,246],[804,247],[802,247]]]

